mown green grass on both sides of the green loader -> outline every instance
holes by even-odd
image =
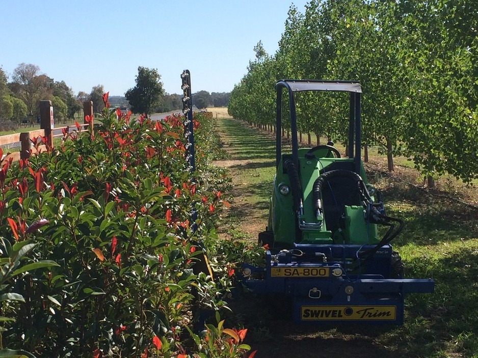
[[[244,189],[235,192],[238,208],[231,209],[233,225],[240,224],[251,210],[267,218],[275,170],[273,138],[231,119],[219,123],[231,159],[248,161],[231,168],[244,183]],[[330,343],[333,336],[339,337],[340,345],[355,331],[368,342],[370,357],[478,357],[478,210],[455,200],[451,192],[427,191],[394,175],[375,175],[374,181],[386,201],[387,213],[406,222],[392,243],[402,255],[406,277],[433,278],[435,293],[406,297],[403,326],[367,325],[365,330],[361,325],[321,327],[303,331],[303,337],[288,344],[305,343],[310,337]],[[237,226],[230,230],[241,236]],[[270,335],[263,326],[256,330]],[[286,334],[273,338],[270,345],[282,346],[281,340],[289,338]]]

